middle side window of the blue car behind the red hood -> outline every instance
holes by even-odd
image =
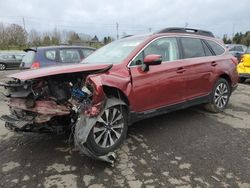
[[[62,49],[59,51],[61,62],[76,63],[80,62],[81,57],[77,49]]]

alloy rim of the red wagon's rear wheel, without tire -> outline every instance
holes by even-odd
[[[214,93],[214,104],[218,108],[224,108],[228,102],[229,89],[225,83],[220,83]]]

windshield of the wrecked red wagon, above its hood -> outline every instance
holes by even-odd
[[[111,42],[85,58],[81,63],[121,63],[144,39],[145,37],[131,37]]]

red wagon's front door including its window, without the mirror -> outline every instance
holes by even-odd
[[[162,64],[142,71],[146,55],[162,56]],[[185,84],[182,62],[179,60],[176,38],[160,38],[150,43],[131,62],[130,72],[133,91],[130,96],[133,111],[142,112],[183,102]]]

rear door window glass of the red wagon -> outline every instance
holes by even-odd
[[[200,39],[181,38],[184,58],[194,58],[206,56]]]

